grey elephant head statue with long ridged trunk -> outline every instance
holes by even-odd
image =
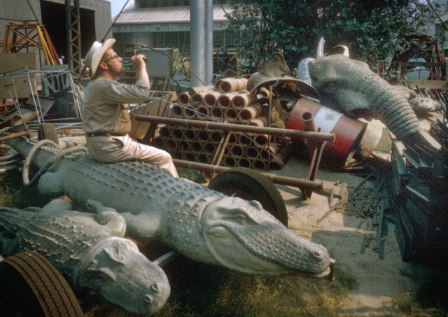
[[[308,70],[323,105],[351,118],[378,119],[408,146],[424,145],[430,154],[440,149],[420,127],[407,99],[364,62],[342,54],[328,55],[309,62]]]

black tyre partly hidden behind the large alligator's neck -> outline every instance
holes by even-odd
[[[258,171],[244,167],[223,171],[211,179],[209,188],[228,196],[257,200],[272,216],[288,227],[288,212],[283,198],[274,184]]]

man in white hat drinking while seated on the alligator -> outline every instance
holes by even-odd
[[[123,59],[112,49],[115,38],[103,44],[95,41],[85,55],[92,80],[83,98],[83,130],[87,149],[99,162],[139,160],[154,164],[178,177],[171,155],[130,138],[131,120],[127,103],[143,102],[149,97],[149,78],[144,55],[131,58],[137,71],[134,85],[118,83]]]

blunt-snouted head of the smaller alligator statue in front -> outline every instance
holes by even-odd
[[[73,279],[77,288],[134,314],[154,314],[170,293],[165,272],[134,242],[119,237],[94,246]]]

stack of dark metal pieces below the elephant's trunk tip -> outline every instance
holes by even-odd
[[[395,233],[407,261],[443,265],[448,254],[448,125],[437,118],[430,133],[442,144],[436,155],[393,139],[391,195],[396,199]]]

